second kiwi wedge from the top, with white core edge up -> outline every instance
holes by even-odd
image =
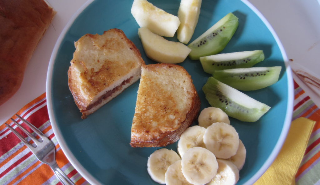
[[[213,74],[215,70],[252,67],[254,64],[263,60],[264,54],[262,50],[223,53],[200,57],[200,62],[204,71],[210,74]]]

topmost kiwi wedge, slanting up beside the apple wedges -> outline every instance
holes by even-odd
[[[188,45],[191,48],[188,56],[191,60],[198,60],[201,56],[218,54],[228,44],[238,25],[238,18],[228,13]]]

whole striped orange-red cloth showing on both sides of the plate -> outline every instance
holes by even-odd
[[[294,82],[294,89],[292,120],[305,117],[316,121],[295,181],[297,185],[320,185],[320,110],[296,82]],[[70,164],[54,136],[49,121],[45,93],[24,106],[17,114],[34,124],[51,139],[56,147],[57,163],[72,181],[77,185],[89,184]],[[15,119],[15,116],[12,118]],[[14,126],[10,120],[6,123]],[[0,184],[61,184],[50,167],[38,161],[28,147],[7,129],[4,123],[0,126]]]

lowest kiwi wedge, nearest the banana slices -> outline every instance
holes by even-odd
[[[211,106],[220,108],[228,116],[240,121],[255,122],[270,109],[268,105],[245,95],[213,77],[209,77],[202,90]]]

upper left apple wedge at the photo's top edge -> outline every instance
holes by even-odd
[[[180,25],[177,16],[157,8],[146,0],[134,0],[131,14],[140,28],[147,27],[153,33],[164,37],[173,37]]]

